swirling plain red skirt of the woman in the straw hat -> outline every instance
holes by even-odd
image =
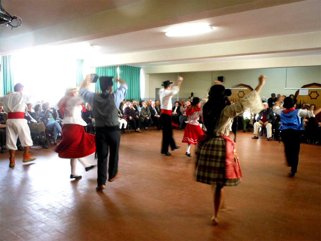
[[[62,140],[56,148],[60,158],[80,158],[96,151],[95,136],[87,134],[83,126],[65,124],[62,126]]]

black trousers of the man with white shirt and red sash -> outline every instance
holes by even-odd
[[[161,153],[167,153],[169,145],[170,148],[172,148],[172,150],[174,150],[176,147],[175,141],[173,139],[172,117],[170,115],[161,113],[160,118],[163,124],[163,139]]]

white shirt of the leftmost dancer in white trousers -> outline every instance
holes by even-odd
[[[4,107],[4,110],[9,112],[24,112],[26,104],[30,103],[31,97],[18,92],[13,92],[8,95],[0,97],[0,105]]]

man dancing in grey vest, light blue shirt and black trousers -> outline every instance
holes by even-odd
[[[107,157],[108,147],[110,148],[108,164],[108,182],[114,181],[119,177],[118,174],[118,149],[120,143],[118,106],[126,96],[127,84],[117,77],[116,82],[120,85],[117,90],[112,92],[113,77],[102,76],[99,78],[102,93],[95,94],[88,91],[91,83],[91,75],[79,85],[80,95],[91,104],[95,116],[96,129],[96,152],[98,157],[98,177],[96,191],[105,189],[107,181]]]

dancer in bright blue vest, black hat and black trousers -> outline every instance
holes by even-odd
[[[283,107],[285,110],[280,109],[280,103],[284,100]],[[300,152],[300,142],[302,130],[301,117],[315,117],[321,112],[321,108],[308,111],[295,109],[297,100],[291,97],[281,97],[280,100],[275,102],[273,106],[273,112],[280,116],[281,126],[279,129],[281,132],[281,138],[284,143],[285,156],[288,161],[288,165],[291,166],[290,177],[294,177],[297,172],[298,162],[299,162],[299,152]]]

